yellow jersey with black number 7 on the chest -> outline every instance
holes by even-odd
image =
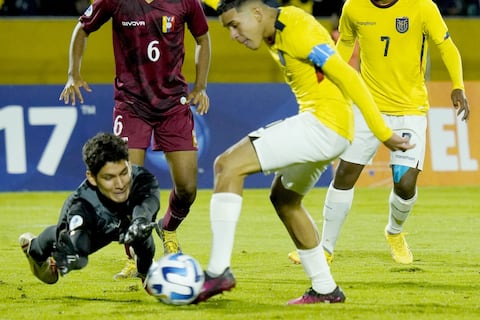
[[[358,39],[360,72],[381,112],[427,113],[427,40],[440,45],[449,39],[448,28],[432,0],[398,0],[387,7],[370,0],[347,0],[339,30],[340,53],[341,46],[353,47]]]

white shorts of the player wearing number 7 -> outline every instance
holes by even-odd
[[[367,126],[360,110],[354,108],[355,137],[352,145],[340,156],[344,161],[366,165],[371,163],[381,142]],[[402,165],[423,169],[427,131],[426,116],[390,116],[382,115],[387,125],[399,136],[408,136],[415,148],[390,152],[390,165]]]

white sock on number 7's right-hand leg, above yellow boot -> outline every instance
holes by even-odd
[[[390,192],[390,197],[388,199],[390,205],[390,212],[388,215],[388,224],[387,232],[390,234],[399,234],[403,230],[403,224],[407,220],[410,211],[413,208],[413,205],[417,201],[417,192],[415,195],[408,199],[404,200],[400,198],[395,192]]]

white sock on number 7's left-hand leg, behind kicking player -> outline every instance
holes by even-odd
[[[339,190],[330,183],[323,206],[322,246],[333,254],[340,230],[352,207],[354,188]]]

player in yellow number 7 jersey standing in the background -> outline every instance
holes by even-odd
[[[440,51],[452,80],[451,99],[463,121],[470,109],[464,93],[462,61],[440,12],[431,0],[348,0],[340,17],[337,49],[345,60],[360,43],[360,72],[384,119],[416,148],[391,153],[393,189],[385,237],[395,262],[410,264],[412,252],[403,226],[417,200],[417,177],[425,158],[427,112],[425,86],[427,45]],[[340,229],[350,210],[354,185],[378,148],[378,140],[361,117],[355,117],[355,139],[340,156],[324,206],[322,246],[333,259]],[[291,260],[300,263],[295,252]]]

